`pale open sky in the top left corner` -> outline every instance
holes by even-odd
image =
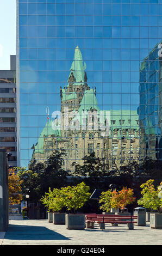
[[[1,0],[0,10],[0,70],[8,70],[16,54],[16,0]]]

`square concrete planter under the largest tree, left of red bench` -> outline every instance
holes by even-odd
[[[66,229],[85,229],[84,214],[66,214],[65,215]]]

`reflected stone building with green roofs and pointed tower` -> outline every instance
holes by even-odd
[[[55,115],[53,121],[47,121],[34,147],[32,162],[43,162],[55,149],[61,148],[66,149],[66,170],[72,169],[74,161],[82,164],[83,156],[92,151],[96,156],[105,158],[109,169],[121,168],[132,158],[138,160],[138,114],[128,110],[101,111],[96,88],[91,89],[87,84],[85,68],[82,54],[76,47],[68,85],[60,88],[60,115],[63,118]],[[67,107],[68,119],[65,118]],[[66,125],[71,127],[65,129]]]

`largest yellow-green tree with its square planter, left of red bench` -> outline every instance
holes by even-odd
[[[85,215],[77,214],[77,209],[82,208],[85,202],[90,198],[89,186],[84,182],[77,186],[67,186],[61,188],[61,197],[71,214],[66,214],[66,229],[84,229]]]

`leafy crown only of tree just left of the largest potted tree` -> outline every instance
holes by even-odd
[[[48,212],[51,210],[52,212],[60,212],[65,207],[65,201],[61,197],[61,190],[58,188],[54,188],[51,191],[49,187],[49,192],[45,193],[45,196],[40,201],[48,208]]]

